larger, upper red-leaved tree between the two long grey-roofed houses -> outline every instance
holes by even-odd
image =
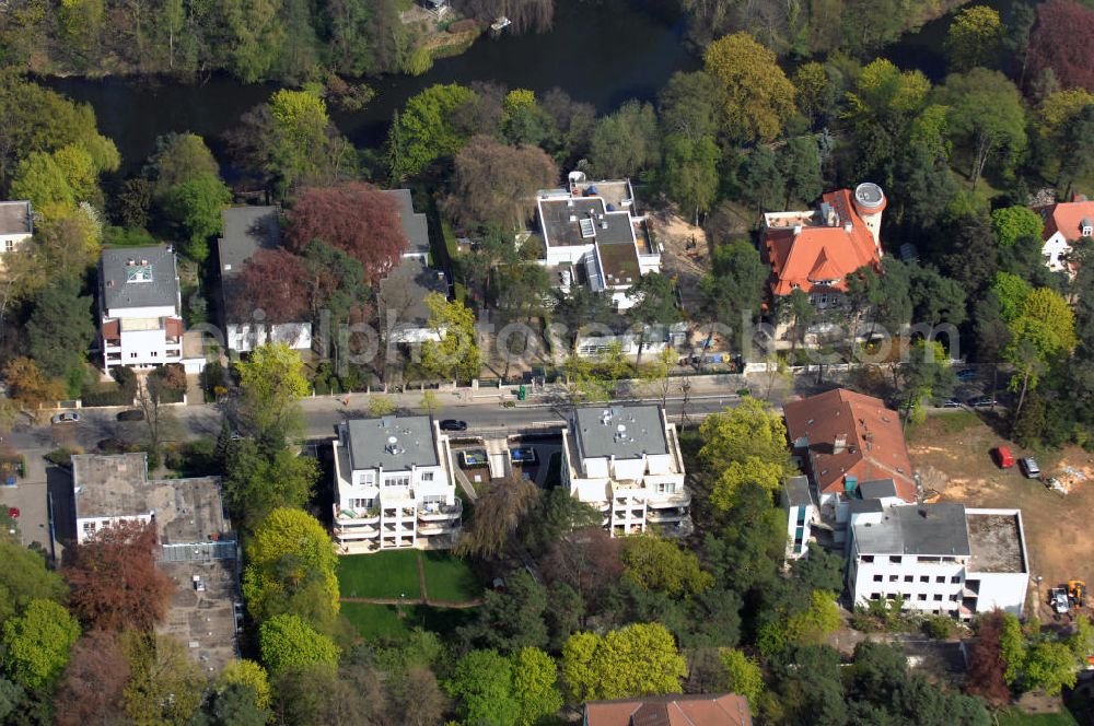
[[[407,248],[395,198],[360,182],[300,195],[289,213],[289,248],[299,253],[315,239],[352,255],[373,286]]]

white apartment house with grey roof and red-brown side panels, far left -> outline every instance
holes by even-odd
[[[182,295],[171,247],[104,249],[98,260],[103,368],[183,362]]]

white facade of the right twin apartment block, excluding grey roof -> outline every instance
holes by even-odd
[[[676,425],[667,422],[660,407],[631,408],[656,411],[667,445],[660,450],[651,446],[640,455],[586,456],[580,419],[574,417],[562,431],[563,484],[572,496],[604,513],[603,524],[613,537],[644,532],[651,525],[665,536],[690,534],[691,492],[684,481]],[[625,425],[614,422],[626,420],[628,407],[615,409],[614,417],[609,409],[604,411],[604,419],[610,419],[604,425]]]

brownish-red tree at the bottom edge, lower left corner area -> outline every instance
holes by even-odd
[[[115,633],[93,630],[72,647],[72,657],[54,696],[57,726],[124,724],[123,695],[129,660]]]

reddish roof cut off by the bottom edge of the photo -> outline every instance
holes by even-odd
[[[752,726],[748,700],[721,695],[665,695],[585,704],[587,726]]]

